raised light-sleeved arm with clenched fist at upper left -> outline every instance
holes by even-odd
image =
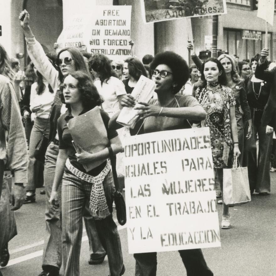
[[[31,61],[33,61],[34,66],[50,83],[52,88],[56,90],[56,88],[59,87],[59,73],[56,68],[51,64],[48,57],[45,55],[45,52],[40,43],[34,38],[33,32],[29,25],[29,13],[24,10],[20,13],[19,19],[21,20],[21,27],[24,31],[27,42],[27,50]]]

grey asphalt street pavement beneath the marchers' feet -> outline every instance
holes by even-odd
[[[231,229],[221,230],[221,247],[204,249],[208,266],[214,275],[275,276],[276,275],[276,173],[271,173],[271,194],[252,195],[250,203],[230,208]],[[18,235],[9,242],[11,253],[3,276],[36,276],[41,270],[45,232],[45,196],[37,190],[37,202],[25,204],[16,211]],[[217,205],[221,221],[222,205]],[[116,214],[114,212],[114,218]],[[117,223],[118,224],[118,223]],[[125,226],[119,226],[126,272],[135,275],[135,260],[128,254]],[[100,265],[88,265],[88,240],[84,230],[80,258],[81,276],[107,276],[107,257]],[[183,276],[186,270],[178,252],[157,255],[158,276]],[[61,269],[62,275],[62,269]]]

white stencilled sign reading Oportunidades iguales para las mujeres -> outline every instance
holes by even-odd
[[[209,128],[125,139],[129,253],[219,247]]]

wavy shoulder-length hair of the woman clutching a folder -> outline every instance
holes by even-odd
[[[81,93],[81,100],[84,109],[93,109],[97,105],[101,105],[104,101],[101,98],[101,96],[98,93],[97,88],[93,84],[91,77],[84,71],[75,71],[72,73],[69,73],[68,76],[72,76],[73,78],[77,79],[77,88],[79,89]],[[60,87],[61,93],[60,98],[61,102],[65,104],[65,99],[63,96],[63,85]],[[68,109],[70,108],[70,105],[66,105]]]

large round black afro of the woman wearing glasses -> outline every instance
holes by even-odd
[[[165,64],[172,70],[173,80],[177,83],[177,86],[173,88],[173,92],[178,93],[190,76],[187,62],[178,54],[166,51],[154,57],[150,69],[154,70],[160,64]]]

